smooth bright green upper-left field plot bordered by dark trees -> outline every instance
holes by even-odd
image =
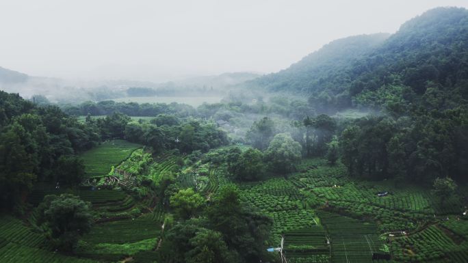
[[[105,141],[81,154],[85,163],[85,176],[90,178],[107,175],[112,166],[117,166],[141,147],[140,144],[124,140]]]

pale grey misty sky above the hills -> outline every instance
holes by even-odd
[[[275,72],[346,36],[467,0],[1,0],[0,66],[67,79]]]

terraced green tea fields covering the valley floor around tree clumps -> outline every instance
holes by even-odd
[[[103,143],[83,154],[88,176],[99,180],[73,189],[36,184],[29,195],[34,206],[60,193],[92,204],[94,226],[73,257],[51,250],[31,210],[27,219],[0,217],[0,262],[156,262],[173,211],[152,185],[168,175],[207,200],[222,186],[237,184],[242,202],[272,219],[263,249],[278,247],[284,238],[290,263],[468,262],[464,204],[438,206],[419,186],[354,180],[341,163],[330,166],[321,158],[302,161],[287,177],[240,183],[224,163],[189,162],[174,152],[152,156],[138,148],[126,141]]]

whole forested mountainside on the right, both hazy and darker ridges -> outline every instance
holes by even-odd
[[[286,70],[246,85],[307,95],[324,112],[378,109],[388,106],[390,98],[411,104],[429,87],[454,93],[454,105],[460,105],[468,98],[468,10],[435,8],[391,36],[336,40]]]

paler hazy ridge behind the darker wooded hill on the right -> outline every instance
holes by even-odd
[[[335,40],[319,51],[307,55],[287,70],[266,75],[252,82],[274,91],[312,94],[313,106],[320,112],[327,111],[330,105],[346,108],[350,106],[350,95],[339,87],[349,85],[349,81],[343,79],[355,72],[346,72],[346,68],[387,38],[388,34],[378,33]]]

